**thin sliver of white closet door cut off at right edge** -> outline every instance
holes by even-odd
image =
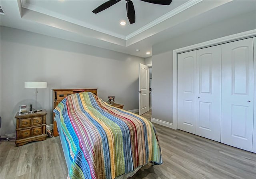
[[[253,54],[254,54],[254,121],[253,121],[253,137],[252,152],[256,153],[256,37],[253,38]]]

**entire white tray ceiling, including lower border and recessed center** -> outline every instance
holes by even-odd
[[[149,57],[152,45],[239,14],[256,11],[256,1],[173,0],[163,6],[133,0],[136,22],[129,24],[126,1],[98,13],[105,0],[1,0],[1,26],[8,26]],[[119,23],[126,21],[125,26]],[[140,49],[136,52],[136,49]]]

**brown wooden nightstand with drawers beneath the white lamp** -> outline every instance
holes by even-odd
[[[46,110],[36,113],[17,113],[16,123],[16,146],[24,145],[32,141],[42,141],[46,139]]]

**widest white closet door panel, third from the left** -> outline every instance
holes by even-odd
[[[252,38],[222,45],[221,142],[252,151]]]

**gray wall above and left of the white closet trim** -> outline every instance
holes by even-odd
[[[152,117],[172,123],[172,50],[256,29],[256,12],[242,14],[152,47]]]

